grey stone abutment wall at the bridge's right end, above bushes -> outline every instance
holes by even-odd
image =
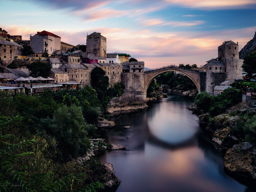
[[[213,92],[215,86],[220,85],[226,80],[226,73],[207,73],[206,74],[206,92]]]

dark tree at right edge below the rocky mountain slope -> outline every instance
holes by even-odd
[[[249,77],[252,77],[253,73],[256,73],[256,52],[252,52],[244,57],[244,63],[242,68],[248,73]]]

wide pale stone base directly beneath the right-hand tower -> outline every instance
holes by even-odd
[[[243,59],[226,59],[224,62],[226,64],[227,80],[242,79]]]

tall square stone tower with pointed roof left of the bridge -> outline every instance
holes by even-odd
[[[93,32],[87,35],[86,51],[95,56],[107,57],[107,38],[100,35],[100,33]]]

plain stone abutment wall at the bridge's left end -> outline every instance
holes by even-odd
[[[122,73],[122,84],[127,92],[144,92],[143,73]]]

